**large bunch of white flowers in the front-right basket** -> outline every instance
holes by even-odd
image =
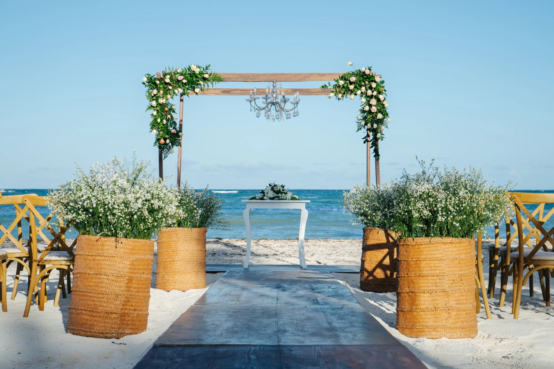
[[[439,171],[433,162],[429,167],[419,164],[419,173],[404,171],[399,181],[385,186],[392,202],[383,206],[383,217],[402,237],[473,238],[511,216],[510,182],[489,186],[483,173],[472,167]]]

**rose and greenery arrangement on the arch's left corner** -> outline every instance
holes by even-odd
[[[146,86],[146,98],[151,110],[152,121],[150,131],[156,136],[153,146],[159,146],[163,152],[163,158],[173,153],[173,147],[179,146],[183,132],[178,130],[176,115],[177,106],[171,103],[175,95],[194,93],[198,95],[208,88],[223,81],[223,77],[209,70],[209,65],[196,66],[191,64],[186,68],[167,68],[160,75],[146,74],[142,78],[142,84]]]

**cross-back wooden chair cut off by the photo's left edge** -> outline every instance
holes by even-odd
[[[14,286],[12,290],[12,300],[16,299],[17,286],[19,284],[19,276],[23,269],[27,270],[27,275],[30,275],[30,269],[27,265],[29,259],[29,243],[23,240],[23,225],[22,221],[29,222],[27,215],[29,207],[23,204],[23,196],[37,196],[35,193],[29,195],[9,195],[0,197],[0,205],[13,205],[16,211],[16,217],[13,222],[8,225],[8,228],[4,227],[0,223],[0,231],[3,233],[0,237],[0,245],[9,239],[16,247],[3,248],[7,252],[7,264],[6,268],[12,263],[16,263],[16,276],[14,280]],[[12,235],[12,232],[17,227],[17,238]],[[39,248],[44,249],[44,245],[40,245]]]

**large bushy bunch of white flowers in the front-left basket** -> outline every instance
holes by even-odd
[[[78,166],[74,176],[48,192],[48,206],[80,234],[150,239],[175,222],[175,189],[135,156],[132,163],[117,158],[94,163],[89,173]]]

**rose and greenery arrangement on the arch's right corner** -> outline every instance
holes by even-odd
[[[353,64],[348,61],[348,65]],[[391,119],[388,116],[387,90],[384,89],[384,80],[381,80],[376,73],[367,68],[356,69],[342,74],[335,79],[334,84],[326,84],[321,89],[331,89],[327,95],[329,99],[333,96],[337,100],[350,98],[354,100],[356,96],[360,98],[360,114],[356,116],[357,131],[365,130],[363,143],[371,142],[374,147],[373,156],[379,160],[379,151],[375,150],[376,142],[384,139],[384,129],[388,127]]]

